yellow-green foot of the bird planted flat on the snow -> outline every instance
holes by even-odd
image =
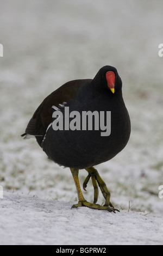
[[[99,204],[92,204],[85,201],[79,201],[78,204],[74,204],[72,205],[72,208],[78,208],[80,206],[85,206],[91,209],[97,209],[97,210],[105,210],[105,211],[109,211],[109,212],[114,212],[116,213],[116,211],[120,212],[118,209],[115,209],[114,206],[112,206],[112,204],[110,205],[99,205]]]

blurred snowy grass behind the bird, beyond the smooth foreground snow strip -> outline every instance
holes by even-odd
[[[1,0],[0,184],[4,190],[74,202],[70,170],[20,135],[43,99],[63,83],[115,66],[131,118],[127,147],[97,166],[119,209],[161,214],[163,199],[163,2]],[[84,181],[85,170],[80,171]],[[93,199],[90,186],[84,193]],[[99,198],[98,203],[102,203]]]

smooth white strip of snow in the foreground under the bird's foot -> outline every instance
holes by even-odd
[[[5,192],[1,201],[3,245],[161,245],[163,220],[140,212],[118,214],[72,203]]]

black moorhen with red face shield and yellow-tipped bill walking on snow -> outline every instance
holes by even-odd
[[[66,113],[70,113],[70,116]],[[83,113],[87,118],[84,119],[84,126]],[[109,113],[111,119],[107,121]],[[111,129],[111,132],[107,132],[107,129]],[[109,212],[118,211],[110,203],[110,192],[105,182],[93,167],[117,155],[130,137],[130,118],[116,68],[103,66],[93,80],[70,81],[55,90],[36,109],[22,136],[35,137],[49,159],[60,166],[70,167],[79,199],[72,208],[87,206]],[[89,179],[92,179],[93,203],[87,202],[82,194],[79,169],[88,172],[84,190]],[[98,186],[105,198],[103,206],[96,204]]]

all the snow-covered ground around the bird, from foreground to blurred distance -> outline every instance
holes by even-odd
[[[162,16],[161,0],[1,1],[0,244],[163,243]],[[117,214],[71,209],[70,170],[20,137],[49,93],[104,65],[122,78],[132,126],[122,153],[96,167]],[[91,182],[84,196],[92,201]]]

